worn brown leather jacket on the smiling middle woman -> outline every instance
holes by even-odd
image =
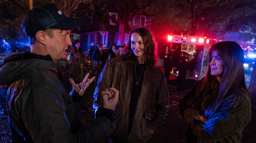
[[[108,61],[101,72],[94,93],[94,110],[102,107],[99,92],[108,87],[119,90],[114,121],[116,130],[111,138],[124,142],[146,142],[153,135],[159,124],[163,122],[169,108],[169,93],[163,72],[154,66],[144,72],[133,125],[128,134],[131,85],[133,82],[132,63],[117,57]]]

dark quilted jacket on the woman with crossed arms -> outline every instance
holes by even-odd
[[[208,103],[217,96],[220,86],[220,83],[215,78],[203,95],[200,95],[199,93],[204,84],[203,79],[201,79],[181,99],[179,103],[181,116],[187,124],[191,125],[198,143],[239,143],[244,127],[251,120],[248,90],[242,87],[236,89],[224,98],[221,107],[209,117],[208,121],[196,124],[193,119],[199,112],[204,113]],[[189,104],[195,97],[200,100]]]

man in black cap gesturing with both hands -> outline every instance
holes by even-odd
[[[8,89],[12,143],[100,142],[114,131],[117,89],[101,92],[104,108],[96,122],[82,127],[76,106],[95,77],[88,79],[88,73],[80,84],[70,79],[70,94],[57,77],[56,68],[63,64],[57,60],[65,58],[65,50],[72,45],[70,29],[80,24],[55,4],[35,7],[24,16],[21,27],[31,51],[5,58],[0,68],[0,86]]]

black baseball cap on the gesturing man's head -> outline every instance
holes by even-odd
[[[33,36],[39,30],[44,31],[51,27],[68,30],[80,26],[81,23],[80,19],[64,15],[53,3],[31,9],[24,15],[20,27],[27,36]]]

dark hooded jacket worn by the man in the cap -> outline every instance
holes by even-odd
[[[81,126],[73,101],[82,97],[70,96],[57,77],[56,67],[62,61],[40,59],[30,52],[6,59],[9,62],[0,69],[0,85],[8,89],[12,143],[100,142],[114,131],[115,124],[105,117]]]

